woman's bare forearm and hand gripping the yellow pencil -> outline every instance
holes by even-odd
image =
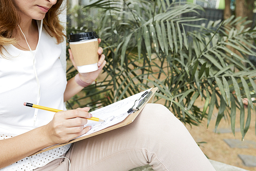
[[[18,136],[0,140],[0,169],[34,154],[40,149],[69,142],[90,130],[87,118],[90,108],[61,111],[51,122]],[[2,148],[1,148],[2,147]],[[18,152],[18,153],[10,153]]]

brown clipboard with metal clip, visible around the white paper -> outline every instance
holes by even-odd
[[[90,137],[93,137],[93,136],[96,136],[96,135],[99,135],[99,134],[102,134],[102,133],[105,133],[105,132],[109,132],[109,131],[118,129],[119,127],[122,127],[122,126],[125,126],[125,125],[128,125],[128,124],[132,123],[136,119],[136,117],[139,115],[139,113],[142,111],[142,109],[145,107],[145,105],[148,103],[148,101],[150,101],[150,99],[156,93],[157,89],[158,89],[157,87],[153,88],[153,89],[151,89],[151,91],[149,91],[147,94],[145,94],[145,98],[143,98],[141,101],[139,101],[138,105],[135,106],[135,103],[134,103],[134,106],[131,106],[131,109],[129,111],[127,111],[128,113],[131,113],[131,114],[129,114],[123,121],[121,121],[117,124],[114,124],[112,126],[106,127],[105,129],[100,130],[98,132],[89,134],[87,136],[83,136],[83,137],[80,137],[80,138],[73,139],[73,140],[71,140],[67,143],[56,144],[56,145],[47,147],[47,148],[42,149],[42,150],[40,150],[40,151],[30,155],[30,156],[33,156],[33,155],[36,155],[36,154],[39,154],[39,153],[43,153],[43,152],[49,151],[50,149],[54,149],[54,148],[57,148],[57,147],[60,147],[60,146],[63,146],[63,145],[74,143],[74,142],[77,142],[77,141],[80,141],[80,140],[83,140],[83,139],[86,139],[86,138],[90,138]],[[143,95],[142,95],[142,97],[143,97]],[[138,100],[140,100],[140,99],[138,99]]]

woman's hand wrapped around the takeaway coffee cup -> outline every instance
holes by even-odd
[[[101,42],[100,38],[98,39],[98,42],[99,43]],[[89,73],[79,73],[80,78],[81,78],[81,80],[83,82],[86,82],[88,84],[93,83],[93,81],[95,81],[96,78],[99,76],[99,74],[100,74],[101,70],[103,69],[103,67],[106,65],[106,61],[104,60],[105,59],[105,55],[102,54],[102,52],[103,52],[103,49],[101,47],[99,47],[99,49],[98,49],[98,55],[99,55],[98,70],[93,71],[93,72],[89,72]],[[73,66],[77,70],[77,66],[75,64],[74,57],[72,55],[71,49],[69,49],[69,55],[70,55],[70,59],[71,59],[71,61],[73,63]]]

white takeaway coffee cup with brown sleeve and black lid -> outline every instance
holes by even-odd
[[[98,70],[98,38],[96,32],[69,34],[68,41],[79,73]]]

